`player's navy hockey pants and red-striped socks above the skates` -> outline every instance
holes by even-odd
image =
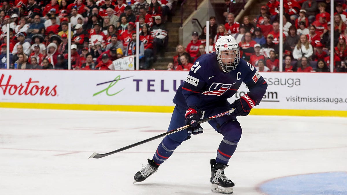
[[[230,110],[229,106],[218,107],[205,111],[204,118],[217,115],[219,113]],[[174,112],[171,116],[168,131],[185,126],[185,112],[186,108],[176,105]],[[223,135],[223,140],[217,150],[217,163],[227,164],[231,155],[235,152],[237,143],[240,141],[242,129],[234,116],[223,116],[209,121],[209,124],[218,133]],[[188,131],[182,130],[180,132],[168,135],[163,138],[159,144],[153,160],[156,164],[161,164],[167,160],[174,150],[184,141],[187,140]],[[198,136],[198,135],[192,135]]]

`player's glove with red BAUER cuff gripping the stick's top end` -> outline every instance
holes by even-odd
[[[234,116],[247,116],[254,106],[254,100],[245,94],[241,96],[240,99],[235,100],[235,102],[230,105],[230,108],[235,108],[235,111],[232,113]]]

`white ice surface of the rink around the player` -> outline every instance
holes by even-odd
[[[166,132],[170,113],[0,109],[0,194],[199,195],[210,191],[210,159],[222,135],[207,123],[147,180],[134,174],[161,138],[88,159]],[[291,175],[347,171],[347,119],[238,117],[241,141],[225,170],[234,194]],[[290,184],[288,184],[290,186]],[[291,186],[293,187],[293,186]]]

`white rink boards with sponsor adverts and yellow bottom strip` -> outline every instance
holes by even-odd
[[[171,112],[172,98],[187,74],[158,70],[1,70],[0,107]],[[269,86],[253,115],[347,117],[347,74],[261,75]],[[229,101],[247,92],[243,84]]]

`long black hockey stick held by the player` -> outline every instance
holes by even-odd
[[[207,121],[210,121],[212,119],[215,119],[215,118],[218,118],[218,117],[222,117],[222,116],[226,116],[226,115],[230,115],[232,112],[234,112],[235,109],[231,109],[231,110],[228,110],[226,112],[222,112],[222,113],[219,113],[218,115],[214,115],[212,117],[209,117],[209,118],[206,118],[206,119],[203,119],[201,121],[198,121],[199,124],[203,123],[203,122],[207,122]],[[137,142],[135,144],[131,144],[131,145],[128,145],[128,146],[125,146],[125,147],[122,147],[118,150],[115,150],[115,151],[112,151],[112,152],[108,152],[108,153],[104,153],[104,154],[99,154],[99,153],[96,153],[94,152],[89,158],[90,159],[100,159],[102,157],[105,157],[105,156],[108,156],[108,155],[111,155],[111,154],[114,154],[114,153],[117,153],[117,152],[120,152],[120,151],[123,151],[123,150],[127,150],[129,148],[132,148],[132,147],[135,147],[135,146],[138,146],[138,145],[141,145],[141,144],[144,144],[146,142],[150,142],[154,139],[158,139],[160,137],[164,137],[166,135],[170,135],[170,134],[173,134],[173,133],[176,133],[176,132],[180,132],[181,130],[184,130],[184,129],[187,129],[189,128],[190,125],[185,125],[183,127],[179,127],[177,129],[174,129],[174,130],[171,130],[169,132],[165,132],[165,133],[162,133],[160,135],[157,135],[157,136],[154,136],[154,137],[151,137],[151,138],[148,138],[148,139],[145,139],[141,142]]]

